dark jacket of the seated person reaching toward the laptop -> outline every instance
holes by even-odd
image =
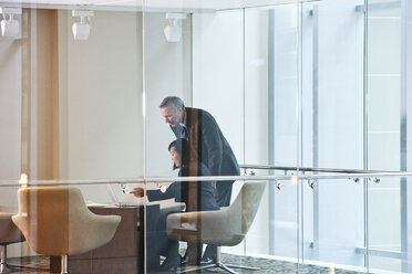
[[[178,171],[179,177],[210,176],[205,165],[194,162],[194,169],[183,167]],[[214,197],[210,181],[175,181],[163,193],[159,190],[147,190],[150,201],[175,198],[176,202],[186,203],[186,211],[219,210]]]

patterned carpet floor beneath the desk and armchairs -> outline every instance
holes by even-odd
[[[257,257],[247,257],[247,256],[245,257],[245,256],[223,254],[223,262],[226,264],[245,265],[245,266],[260,268],[258,271],[246,271],[246,270],[236,268],[236,271],[241,274],[298,273],[298,266],[296,263],[275,261],[275,260],[268,260],[268,259],[257,259]],[[21,273],[21,274],[41,273],[41,274],[44,274],[44,273],[49,273],[49,270],[50,270],[48,256],[10,259],[9,263],[11,265],[21,265],[23,267],[20,270],[14,270],[13,272],[6,271],[4,273]],[[192,267],[193,266],[187,266],[187,268],[192,268]],[[182,267],[182,270],[186,270],[186,267]],[[168,273],[175,273],[175,272],[168,272]],[[227,272],[223,270],[212,268],[212,270],[195,271],[195,272],[189,272],[189,273],[227,273]],[[358,272],[342,271],[342,270],[331,271],[327,267],[315,266],[315,265],[300,265],[299,273],[301,274],[315,274],[315,273],[358,274]],[[99,273],[99,274],[104,274],[104,273]],[[119,274],[124,274],[124,273],[119,273]]]

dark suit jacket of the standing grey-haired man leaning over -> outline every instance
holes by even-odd
[[[215,118],[206,110],[185,107],[190,158],[206,165],[213,176],[238,176],[239,165]],[[172,127],[181,138],[182,127]]]

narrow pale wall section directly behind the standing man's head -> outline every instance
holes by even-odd
[[[178,96],[192,105],[192,18],[183,20],[182,40],[167,42],[163,12],[145,14],[146,176],[177,176],[172,171],[168,145],[175,139],[158,105],[166,96]]]

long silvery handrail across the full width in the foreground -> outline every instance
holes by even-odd
[[[296,182],[297,180],[325,180],[325,179],[358,179],[360,178],[381,178],[381,177],[412,177],[412,172],[371,172],[371,173],[343,173],[343,175],[258,175],[258,176],[202,176],[185,177],[185,181],[227,181],[227,180],[286,180]],[[182,180],[182,177],[146,177],[146,178],[123,178],[123,179],[89,179],[89,180],[29,180],[21,183],[20,180],[2,180],[0,187],[25,186],[71,186],[71,185],[106,185],[106,183],[146,183],[146,182],[172,182]]]

